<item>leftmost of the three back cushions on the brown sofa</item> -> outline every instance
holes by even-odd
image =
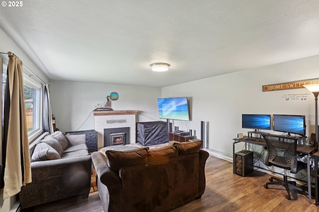
[[[107,150],[105,154],[110,169],[118,171],[123,167],[146,164],[148,159],[148,150],[149,147],[129,151]]]

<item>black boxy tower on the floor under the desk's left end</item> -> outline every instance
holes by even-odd
[[[247,176],[253,171],[254,153],[249,150],[241,150],[235,153],[235,174],[242,177]]]

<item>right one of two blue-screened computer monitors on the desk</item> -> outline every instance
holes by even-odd
[[[274,130],[306,135],[305,115],[279,115],[274,114]]]

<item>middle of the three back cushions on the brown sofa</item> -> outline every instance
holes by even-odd
[[[148,163],[163,164],[169,161],[169,158],[177,157],[178,149],[173,145],[167,145],[148,151]]]

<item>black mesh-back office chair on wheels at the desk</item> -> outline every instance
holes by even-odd
[[[287,170],[290,170],[291,173],[297,173],[299,170],[304,169],[303,163],[297,160],[297,139],[285,139],[285,142],[283,142],[279,140],[269,141],[267,136],[263,135],[263,137],[265,139],[268,150],[266,165],[280,167],[283,168],[285,171],[284,179],[271,177],[269,179],[270,182],[266,183],[264,187],[268,189],[268,185],[282,185],[286,188],[288,193],[288,195],[286,195],[286,198],[288,200],[291,200],[289,188],[304,192],[301,188],[296,186],[296,182],[287,180]],[[283,151],[283,154],[278,154],[278,152]]]

